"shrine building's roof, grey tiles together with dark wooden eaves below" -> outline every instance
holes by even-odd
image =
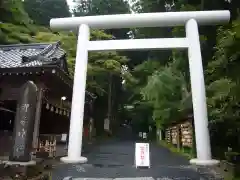
[[[0,75],[34,75],[50,73],[71,89],[73,79],[69,76],[66,52],[60,42],[0,45]],[[53,85],[54,82],[45,80]],[[56,81],[55,81],[56,82]],[[63,86],[56,86],[62,87]],[[95,98],[95,95],[86,91]]]

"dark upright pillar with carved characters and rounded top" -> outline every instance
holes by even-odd
[[[9,160],[31,160],[32,139],[37,104],[37,86],[27,81],[20,89],[13,130],[13,145]]]

